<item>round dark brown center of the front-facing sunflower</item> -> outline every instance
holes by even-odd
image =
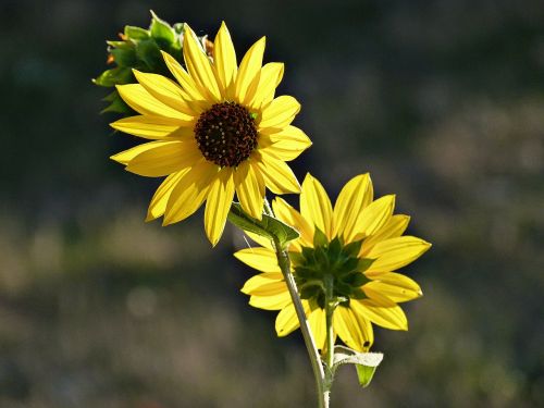
[[[203,157],[224,168],[234,168],[257,147],[257,126],[249,111],[236,102],[213,104],[200,114],[195,138]]]

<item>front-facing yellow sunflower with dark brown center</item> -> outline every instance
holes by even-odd
[[[185,25],[185,67],[163,52],[177,82],[134,71],[138,84],[118,86],[136,116],[113,122],[118,131],[151,141],[111,158],[143,176],[166,176],[151,199],[146,221],[172,224],[191,215],[205,201],[205,230],[215,245],[236,194],[243,209],[261,219],[264,190],[299,193],[285,163],[311,141],[292,126],[300,104],[274,97],[284,65],[262,65],[265,38],[237,66],[231,35],[223,23],[208,57]]]

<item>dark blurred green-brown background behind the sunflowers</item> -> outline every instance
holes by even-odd
[[[252,271],[202,214],[144,223],[159,180],[108,157],[106,39],[149,10],[238,52],[268,36],[280,94],[313,147],[294,164],[333,196],[370,171],[409,234],[424,297],[376,329],[370,388],[333,407],[544,406],[544,3],[0,1],[0,407],[313,407],[299,332],[239,293]]]

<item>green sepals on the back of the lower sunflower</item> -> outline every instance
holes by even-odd
[[[367,296],[361,286],[370,280],[363,272],[372,264],[369,258],[359,258],[362,240],[344,245],[341,237],[331,242],[316,228],[313,248],[302,247],[292,254],[294,276],[302,299],[325,308],[325,287],[332,285],[332,297],[339,305],[348,306],[349,299]]]

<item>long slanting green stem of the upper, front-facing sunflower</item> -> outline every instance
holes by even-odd
[[[319,356],[318,348],[316,347],[316,341],[313,339],[313,336],[311,334],[310,325],[308,324],[308,320],[306,319],[306,313],[300,300],[300,296],[298,295],[295,279],[290,273],[289,256],[287,251],[282,247],[277,238],[274,239],[274,247],[277,257],[277,264],[282,270],[283,277],[289,289],[290,299],[293,300],[293,305],[295,306],[295,311],[300,323],[300,331],[302,332],[306,349],[308,350],[308,355],[310,357],[311,368],[313,371],[313,376],[316,379],[316,385],[318,387],[318,407],[329,408],[329,392],[325,390],[324,383],[325,373],[321,363],[321,357]]]

